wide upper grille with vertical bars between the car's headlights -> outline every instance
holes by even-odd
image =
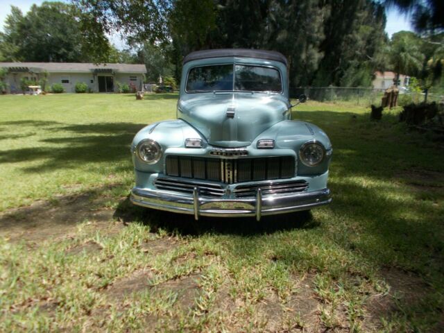
[[[292,178],[295,175],[295,159],[292,156],[276,156],[230,160],[169,155],[165,171],[167,176],[235,184],[237,182]]]

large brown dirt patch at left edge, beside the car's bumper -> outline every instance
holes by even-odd
[[[114,223],[113,210],[100,205],[103,198],[94,192],[37,200],[30,206],[0,214],[0,237],[10,241],[44,241],[69,237],[76,225],[89,221],[94,229],[118,232],[123,223]],[[96,207],[96,208],[94,208]]]

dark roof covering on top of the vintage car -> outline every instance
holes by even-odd
[[[253,50],[253,49],[214,49],[203,50],[189,53],[185,57],[183,63],[191,60],[206,59],[206,58],[226,58],[226,57],[244,57],[244,58],[259,58],[266,60],[275,60],[283,62],[287,66],[287,58],[276,51]]]

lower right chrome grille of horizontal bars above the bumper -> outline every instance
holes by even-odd
[[[270,194],[302,192],[307,189],[308,184],[305,180],[295,180],[293,182],[277,182],[275,184],[240,185],[234,189],[233,194],[236,198],[254,197],[258,187],[260,187],[263,196],[268,196]]]

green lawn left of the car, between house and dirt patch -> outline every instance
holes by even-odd
[[[0,211],[92,186],[130,185],[133,136],[175,117],[175,104],[176,96],[2,96]]]

